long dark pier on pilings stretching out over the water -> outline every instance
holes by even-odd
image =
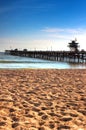
[[[65,61],[72,63],[86,63],[86,51],[21,51],[6,50],[7,54],[30,58],[39,58],[53,61]]]

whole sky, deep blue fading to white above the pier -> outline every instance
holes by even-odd
[[[86,0],[0,0],[0,51],[86,50]]]

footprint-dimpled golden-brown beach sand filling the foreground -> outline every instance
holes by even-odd
[[[0,70],[0,130],[86,130],[86,70]]]

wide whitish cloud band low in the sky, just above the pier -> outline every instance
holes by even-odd
[[[66,30],[64,32],[64,30]],[[85,29],[62,29],[49,30],[49,32],[39,34],[37,37],[14,37],[0,38],[0,49],[6,50],[18,48],[28,50],[68,50],[68,43],[77,38],[80,50],[86,50],[86,30]],[[58,33],[57,33],[58,32]],[[64,33],[63,33],[64,32]],[[43,35],[43,36],[42,36]]]

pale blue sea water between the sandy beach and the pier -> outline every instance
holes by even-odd
[[[41,60],[29,57],[6,55],[0,52],[0,69],[86,69],[85,64]]]

